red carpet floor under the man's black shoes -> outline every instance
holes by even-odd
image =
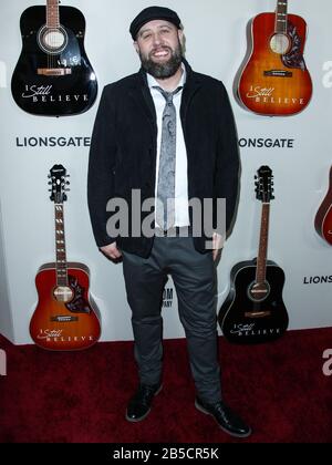
[[[332,328],[291,331],[270,344],[220,338],[224,396],[251,425],[248,440],[225,434],[194,406],[184,340],[165,341],[164,390],[142,423],[125,421],[136,386],[133,343],[80,352],[15,347],[0,337],[0,442],[227,443],[332,441],[332,376],[322,372]]]

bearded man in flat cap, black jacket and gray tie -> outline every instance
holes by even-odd
[[[133,312],[139,385],[129,400],[126,420],[144,420],[162,390],[160,303],[170,275],[188,343],[195,405],[227,433],[247,437],[250,427],[221,397],[217,359],[215,260],[222,234],[217,199],[226,199],[224,229],[228,229],[239,172],[228,95],[220,81],[194,72],[185,60],[183,28],[175,11],[146,8],[133,20],[129,32],[142,68],[104,89],[89,166],[94,236],[104,255],[112,260],[123,258]],[[107,214],[115,198],[126,200],[131,218],[118,234],[110,227],[118,211]],[[143,204],[151,198],[153,234],[147,234]],[[201,206],[201,218],[206,217],[205,200],[211,200],[209,219],[215,231],[209,237],[206,230],[197,234],[203,221],[194,216],[191,199]],[[142,228],[136,235],[133,224],[139,207]]]

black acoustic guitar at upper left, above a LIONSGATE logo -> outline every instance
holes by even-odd
[[[89,110],[97,81],[84,50],[85,19],[73,7],[48,0],[21,16],[22,51],[11,80],[17,104],[28,113],[64,116]]]

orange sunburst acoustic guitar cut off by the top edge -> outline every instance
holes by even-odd
[[[288,14],[287,0],[278,0],[276,13],[258,14],[249,25],[249,59],[237,87],[240,104],[269,116],[303,111],[312,96],[312,81],[303,59],[305,21]]]

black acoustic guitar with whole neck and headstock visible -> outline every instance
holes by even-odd
[[[270,200],[273,199],[272,172],[261,166],[256,182],[257,198],[262,202],[258,257],[237,264],[230,275],[230,291],[218,313],[227,340],[256,344],[280,338],[288,328],[282,300],[284,273],[267,260]]]

